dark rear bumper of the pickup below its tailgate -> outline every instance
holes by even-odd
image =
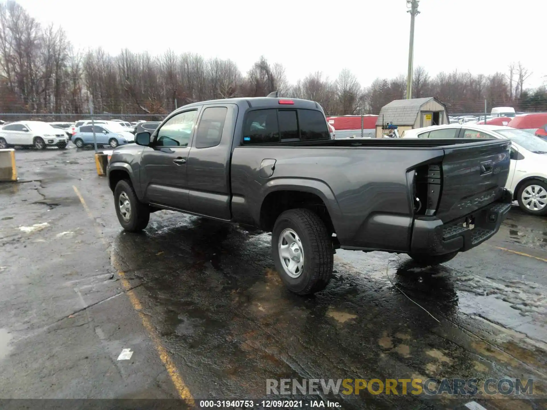
[[[511,209],[513,193],[507,189],[498,201],[476,210],[463,218],[443,224],[440,219],[416,219],[412,229],[410,252],[423,255],[443,255],[466,251],[494,236]],[[466,220],[473,229],[464,227]]]

